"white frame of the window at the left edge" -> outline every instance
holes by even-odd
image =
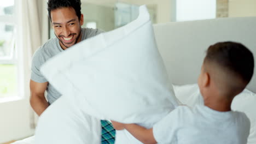
[[[16,87],[17,94],[9,97],[0,98],[0,103],[6,103],[8,101],[21,100],[25,98],[25,85],[24,85],[24,61],[23,61],[23,43],[22,43],[22,2],[20,0],[14,0],[14,10],[12,15],[0,15],[0,22],[10,24],[14,26],[14,44],[12,49],[12,57],[0,57],[0,64],[13,64],[16,71]]]

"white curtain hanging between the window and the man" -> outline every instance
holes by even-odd
[[[38,9],[38,3],[42,3],[42,0],[22,0],[21,9],[22,13],[20,14],[21,22],[21,34],[22,37],[18,38],[22,40],[22,59],[23,63],[23,75],[24,75],[24,95],[29,101],[30,98],[30,74],[31,74],[31,59],[34,51],[38,49],[41,43],[41,31],[40,31],[40,11]],[[42,9],[42,8],[41,8]],[[29,104],[29,103],[28,103]],[[30,125],[31,128],[36,126],[37,116],[30,109]]]

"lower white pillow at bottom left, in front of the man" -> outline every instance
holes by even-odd
[[[36,144],[101,143],[100,119],[87,115],[74,102],[63,95],[42,113]]]

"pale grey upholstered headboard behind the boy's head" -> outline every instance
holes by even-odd
[[[169,22],[154,25],[155,39],[174,85],[196,83],[208,46],[236,41],[253,52],[256,63],[256,17]],[[256,68],[247,88],[256,93]]]

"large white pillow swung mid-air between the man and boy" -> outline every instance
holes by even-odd
[[[128,25],[84,40],[42,67],[82,111],[123,123],[157,122],[177,106],[146,6]]]

